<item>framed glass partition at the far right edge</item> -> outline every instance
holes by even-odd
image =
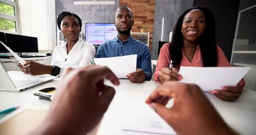
[[[231,64],[256,68],[256,5],[239,11]]]

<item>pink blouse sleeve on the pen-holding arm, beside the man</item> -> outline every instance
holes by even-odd
[[[169,43],[165,43],[163,47],[160,49],[159,57],[158,57],[158,63],[156,64],[156,70],[154,79],[156,82],[161,83],[158,80],[158,75],[162,68],[169,67],[170,64],[170,52],[169,52]]]

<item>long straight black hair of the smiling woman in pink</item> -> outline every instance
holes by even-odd
[[[197,43],[201,50],[203,66],[217,66],[218,54],[215,40],[215,20],[212,11],[206,7],[192,7],[185,10],[179,16],[176,25],[173,28],[172,41],[170,42],[170,58],[173,60],[173,67],[179,69],[182,59],[183,35],[181,33],[184,17],[192,10],[200,10],[205,15],[204,33],[199,37]]]

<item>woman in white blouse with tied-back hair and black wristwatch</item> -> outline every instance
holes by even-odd
[[[90,57],[95,57],[93,44],[79,38],[82,20],[78,15],[67,11],[61,12],[57,17],[57,25],[64,35],[65,42],[53,50],[51,65],[28,61],[24,66],[19,64],[21,71],[32,75],[56,76],[61,75],[65,68],[86,66],[90,63]]]

